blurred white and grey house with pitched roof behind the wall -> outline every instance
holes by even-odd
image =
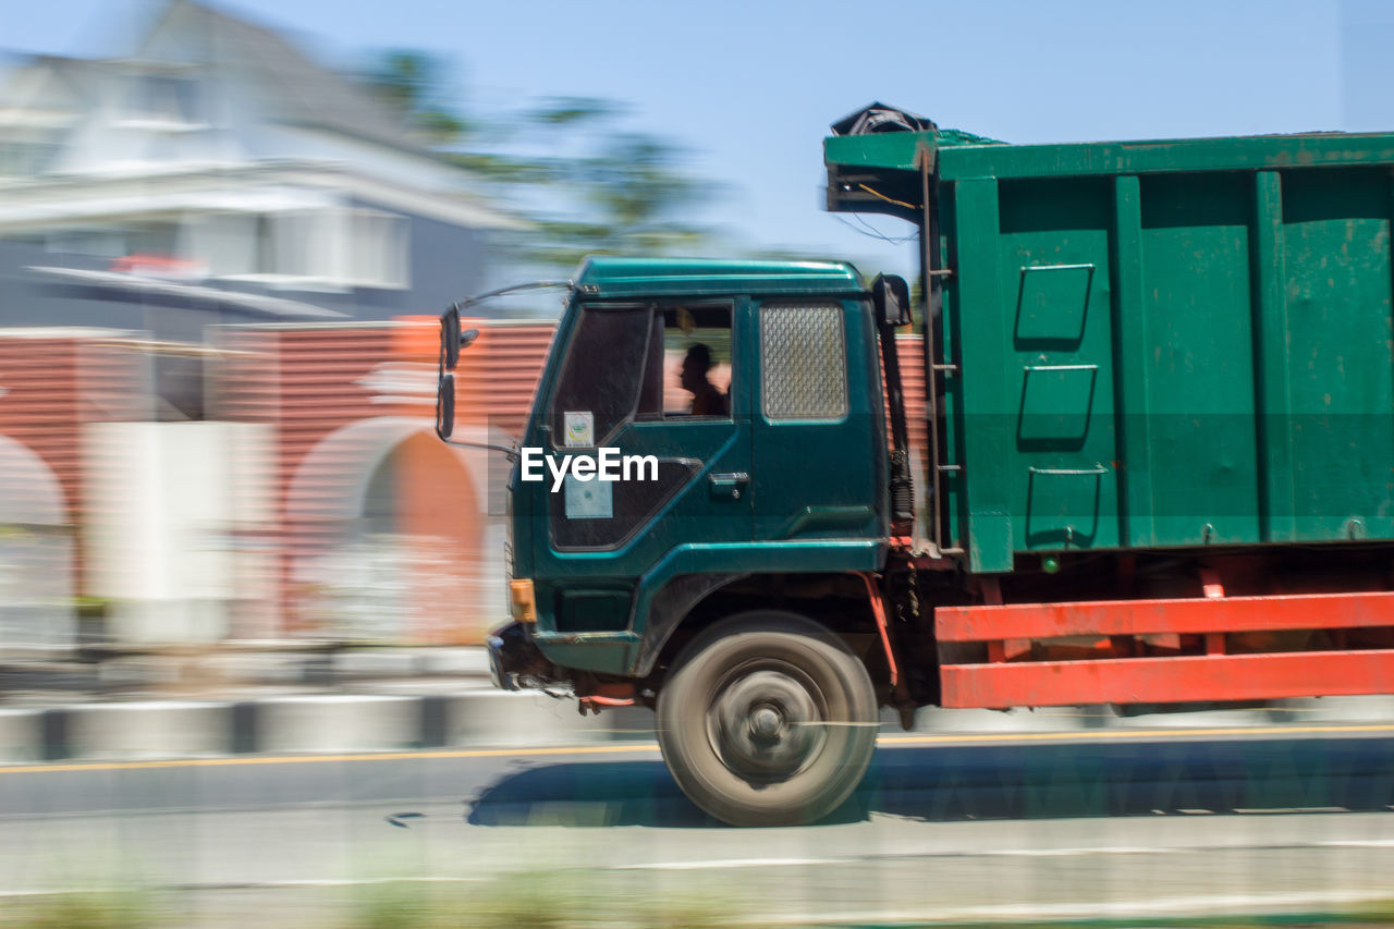
[[[283,36],[174,0],[125,57],[0,82],[0,325],[438,312],[513,225],[470,180]]]

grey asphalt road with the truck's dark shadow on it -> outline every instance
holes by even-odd
[[[13,767],[0,836],[0,908],[135,884],[178,925],[335,925],[383,886],[771,923],[1326,912],[1394,898],[1394,725],[882,737],[828,822],[771,830],[705,817],[651,743]]]

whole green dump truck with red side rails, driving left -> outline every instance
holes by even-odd
[[[1394,690],[1394,135],[834,133],[828,208],[914,223],[923,300],[584,264],[513,451],[499,686],[654,707],[735,824],[842,803],[881,707]],[[443,437],[459,346],[452,308]]]

